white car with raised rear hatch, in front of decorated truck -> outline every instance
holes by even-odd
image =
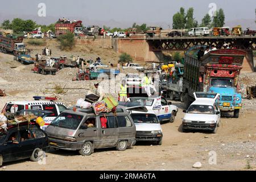
[[[217,126],[220,125],[220,109],[216,104],[218,93],[196,92],[193,93],[196,100],[183,110],[185,114],[182,122],[183,131],[210,130],[216,133]]]

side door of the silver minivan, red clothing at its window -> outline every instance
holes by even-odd
[[[101,121],[101,117],[98,117]],[[101,134],[100,134],[100,148],[105,147],[114,147],[117,144],[118,140],[118,127],[117,127],[117,118],[114,115],[106,116],[107,123],[106,128],[102,128],[101,126]]]

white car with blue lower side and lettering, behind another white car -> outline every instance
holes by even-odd
[[[174,122],[178,108],[167,102],[164,97],[148,98],[148,97],[130,97],[130,102],[146,106],[149,111],[154,111],[160,122]]]

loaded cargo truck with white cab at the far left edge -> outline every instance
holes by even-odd
[[[13,53],[14,56],[23,52],[26,54],[28,50],[23,43],[22,36],[16,36],[12,34],[5,34],[4,32],[0,33],[0,52],[3,53]]]

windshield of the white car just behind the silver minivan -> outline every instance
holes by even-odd
[[[155,114],[131,114],[134,123],[159,123]]]

